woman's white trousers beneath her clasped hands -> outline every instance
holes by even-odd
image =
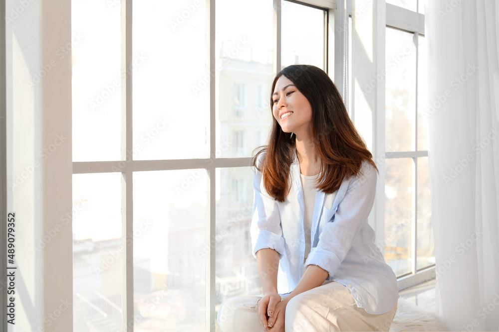
[[[256,301],[261,298],[262,296],[242,296],[222,303],[217,317],[220,330],[264,331],[256,313]],[[281,296],[281,300],[284,298],[285,296]],[[286,332],[388,331],[395,317],[397,304],[398,301],[385,314],[371,315],[357,306],[348,287],[332,281],[289,300],[284,315],[284,328]]]

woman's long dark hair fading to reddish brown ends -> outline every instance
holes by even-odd
[[[315,154],[321,160],[317,188],[326,194],[335,192],[343,179],[358,174],[364,160],[379,174],[371,152],[348,116],[341,95],[329,76],[311,65],[291,65],[282,69],[272,83],[270,112],[272,93],[281,76],[293,82],[312,107],[312,140]],[[291,188],[289,171],[296,153],[296,135],[289,136],[290,133],[283,132],[272,116],[268,144],[255,148],[253,153],[259,151],[251,158],[251,164],[262,173],[263,187],[278,202],[284,202]],[[257,165],[261,153],[261,164]]]

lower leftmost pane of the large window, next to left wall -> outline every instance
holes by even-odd
[[[74,174],[72,220],[73,329],[121,331],[121,173]]]

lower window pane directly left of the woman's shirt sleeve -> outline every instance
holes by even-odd
[[[250,167],[219,170],[215,264],[217,315],[222,302],[230,298],[262,293],[256,260],[251,254],[253,171]]]

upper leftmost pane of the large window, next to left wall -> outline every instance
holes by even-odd
[[[73,161],[120,160],[120,9],[71,1]],[[92,19],[89,20],[89,17]]]

